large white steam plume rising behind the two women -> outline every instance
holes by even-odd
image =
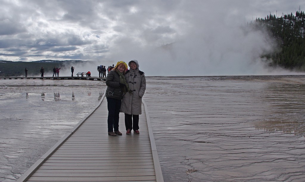
[[[164,46],[160,39],[150,42],[156,39],[149,32],[143,35],[149,37],[145,44],[138,39],[117,40],[109,56],[114,60],[137,59],[140,70],[149,76],[299,74],[269,67],[271,60],[262,59],[261,55],[278,49],[273,38],[267,37],[264,30],[245,31],[244,17],[232,13],[234,9],[227,3],[203,2],[185,12],[190,8],[186,3],[185,7],[179,7],[184,17],[175,16],[181,18],[174,20],[180,32],[170,34],[172,42],[165,42]],[[202,11],[207,4],[208,7],[217,4],[221,11],[213,8]],[[168,41],[167,38],[164,37],[164,41]]]

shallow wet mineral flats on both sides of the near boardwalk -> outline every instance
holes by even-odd
[[[305,76],[146,79],[165,181],[304,181]],[[0,88],[0,181],[15,181],[96,106],[106,86],[0,80]]]

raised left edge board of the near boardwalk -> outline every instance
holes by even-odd
[[[83,124],[84,121],[86,121],[86,119],[89,116],[91,116],[91,114],[97,108],[99,108],[99,106],[101,105],[102,100],[104,99],[104,97],[105,97],[105,93],[103,94],[101,100],[99,101],[99,104],[95,107],[95,109],[93,109],[90,113],[88,113],[80,122],[78,122],[78,124],[76,124],[74,126],[74,128],[72,128],[72,130],[70,130],[53,147],[51,147],[51,149],[49,149],[48,152],[46,152],[43,156],[41,156],[41,158],[38,159],[19,179],[17,179],[16,182],[23,182],[23,181],[26,181],[28,178],[30,178],[31,175],[38,169],[38,167],[40,167],[41,164],[44,163],[45,160],[48,159],[49,156],[51,156],[56,151],[56,149],[58,149],[81,126],[81,124]]]

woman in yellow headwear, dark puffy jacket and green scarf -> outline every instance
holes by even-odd
[[[108,108],[108,135],[122,135],[119,131],[119,114],[123,93],[129,92],[125,79],[127,64],[123,61],[117,62],[116,67],[109,72],[106,78],[106,99]],[[114,132],[113,132],[114,129]]]

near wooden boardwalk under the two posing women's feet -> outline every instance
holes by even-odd
[[[147,113],[143,102],[139,135],[125,134],[124,113],[120,113],[123,135],[109,136],[104,94],[95,110],[17,181],[163,181]]]

